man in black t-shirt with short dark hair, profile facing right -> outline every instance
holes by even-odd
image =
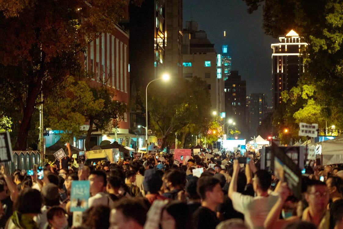
[[[219,220],[215,209],[223,203],[223,191],[220,181],[212,176],[201,176],[197,183],[197,192],[201,197],[201,206],[194,212],[194,228],[215,229]]]

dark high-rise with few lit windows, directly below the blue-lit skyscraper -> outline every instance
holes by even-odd
[[[230,77],[225,80],[225,113],[226,119],[233,119],[241,135],[246,137],[249,133],[247,126],[247,87],[246,81],[241,79],[238,71],[231,71]]]

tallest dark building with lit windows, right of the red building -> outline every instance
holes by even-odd
[[[145,126],[145,116],[136,111],[137,104],[144,108],[139,92],[144,94],[146,85],[165,72],[171,77],[182,75],[182,1],[131,4],[123,25],[130,35],[130,127],[134,128]]]

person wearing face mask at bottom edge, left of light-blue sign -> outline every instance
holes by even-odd
[[[51,207],[46,213],[48,225],[45,229],[67,229],[68,215],[66,210],[59,206]]]

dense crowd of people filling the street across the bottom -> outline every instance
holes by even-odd
[[[42,179],[1,166],[0,228],[343,228],[341,165],[307,168],[298,199],[259,169],[255,152],[246,153],[248,163],[239,163],[240,152],[200,152],[180,164],[166,153],[88,166],[80,160],[76,168],[67,148],[69,156],[46,164]],[[193,175],[198,168],[200,177]],[[80,180],[90,184],[82,219],[70,211],[72,184]]]

